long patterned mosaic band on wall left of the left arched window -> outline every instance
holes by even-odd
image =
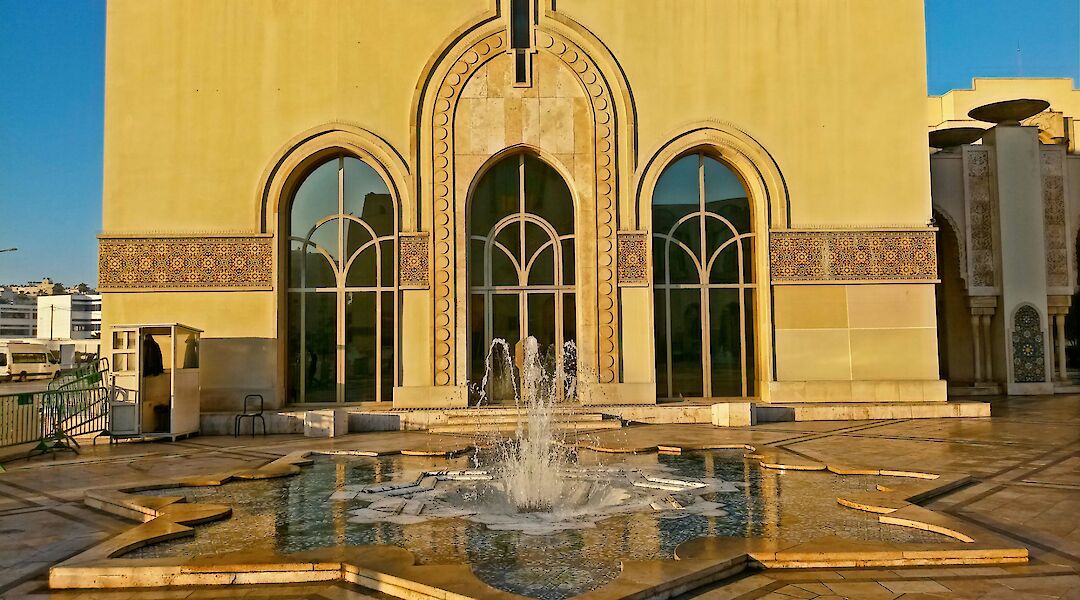
[[[103,290],[272,289],[270,237],[106,237],[99,240]]]

